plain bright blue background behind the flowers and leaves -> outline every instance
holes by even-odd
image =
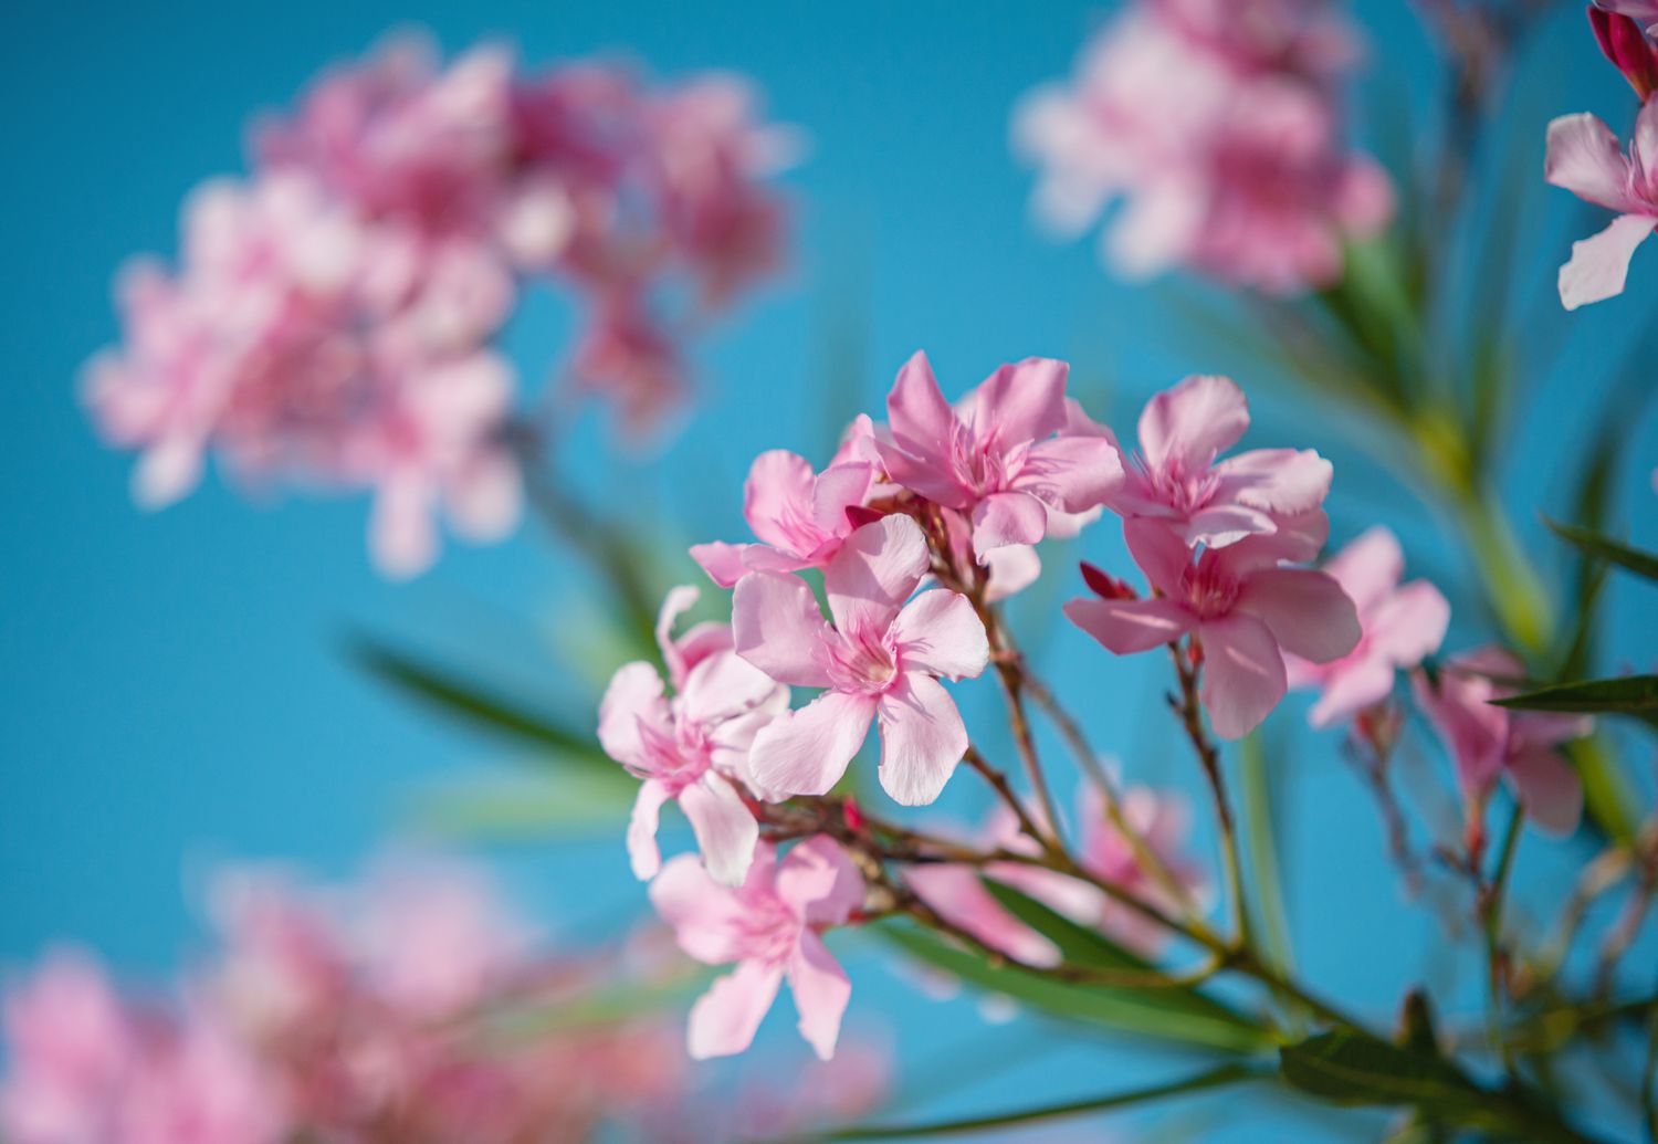
[[[1388,521],[1409,542],[1413,570],[1442,582],[1454,605],[1467,600],[1457,589],[1466,569],[1442,540],[1447,522],[1353,448],[1355,426],[1194,335],[1174,305],[1190,282],[1116,284],[1091,244],[1056,245],[1028,224],[1030,176],[1008,153],[1008,109],[1069,68],[1101,17],[1091,5],[297,0],[143,8],[13,3],[0,40],[8,156],[0,191],[3,963],[70,938],[124,972],[164,973],[199,948],[201,870],[287,856],[347,874],[388,836],[408,834],[419,819],[411,809],[424,806],[419,791],[519,774],[492,746],[363,680],[338,653],[350,630],[400,635],[486,668],[577,718],[589,710],[580,680],[555,655],[589,630],[587,585],[532,524],[496,549],[453,547],[433,574],[391,585],[366,562],[361,502],[293,497],[254,507],[209,479],[166,512],[136,511],[126,494],[129,459],[98,444],[76,405],[80,365],[116,333],[114,267],[134,252],[171,250],[186,191],[240,169],[242,126],[254,109],[287,103],[322,65],[401,25],[429,27],[449,50],[502,35],[532,65],[620,50],[668,76],[738,70],[768,93],[776,118],[809,134],[804,164],[786,179],[797,219],[793,269],[700,347],[695,421],[648,458],[618,459],[602,419],[582,428],[575,459],[587,484],[607,504],[628,506],[642,527],[673,521],[670,559],[680,540],[741,537],[739,484],[753,454],[786,446],[821,461],[846,418],[879,411],[897,365],[925,347],[950,393],[1003,360],[1064,356],[1091,411],[1121,428],[1146,395],[1180,375],[1232,371],[1255,398],[1252,443],[1310,444],[1336,459],[1338,540]],[[1431,96],[1433,55],[1406,5],[1373,0],[1358,17],[1371,40],[1355,95],[1361,131],[1376,141],[1409,138],[1416,128],[1404,124],[1419,121]],[[1600,222],[1542,186],[1542,124],[1595,109],[1623,129],[1630,101],[1573,5],[1562,5],[1524,75],[1524,96],[1509,111],[1517,174],[1500,186],[1525,204],[1520,254],[1512,282],[1471,287],[1530,297],[1525,313],[1560,333],[1547,358],[1534,358],[1502,468],[1527,549],[1554,569],[1552,540],[1534,512],[1565,511],[1600,416],[1597,395],[1646,320],[1658,267],[1641,252],[1628,297],[1572,318],[1559,312],[1554,267],[1572,237]],[[527,378],[559,351],[560,322],[562,310],[537,298],[514,325],[509,340]],[[1646,477],[1655,464],[1658,423],[1646,411],[1618,476],[1617,519],[1648,547],[1658,547]],[[1083,549],[1124,570],[1109,524]],[[1074,590],[1069,557],[1054,554],[1050,567],[1054,584],[1043,590]],[[1618,625],[1600,667],[1648,667],[1655,595],[1625,580],[1610,592]],[[1477,612],[1457,607],[1447,648],[1482,638]],[[1159,657],[1108,662],[1068,628],[1036,632],[1033,642],[1046,675],[1088,710],[1096,743],[1131,776],[1200,793],[1161,711]],[[1006,754],[988,680],[957,691],[975,734]],[[1300,731],[1303,710],[1305,700],[1293,698],[1273,721],[1290,779],[1302,970],[1376,1020],[1416,977],[1472,1001],[1471,963],[1426,953],[1433,927],[1401,905],[1370,804],[1336,759],[1338,738]],[[1650,761],[1650,746],[1638,744],[1635,758]],[[1059,788],[1071,781],[1061,771]],[[948,812],[965,817],[978,806],[953,791]],[[618,831],[602,822],[595,832],[496,847],[521,897],[572,942],[615,932],[643,909]],[[1582,846],[1527,839],[1519,917],[1552,917],[1565,859],[1582,857]],[[937,1089],[909,1093],[905,1111],[1089,1094],[1171,1069],[1156,1054],[1056,1041],[1038,1026],[980,1028],[968,1001],[927,1001],[861,952],[867,947],[842,948],[857,983],[851,1028],[879,1030],[915,1083]],[[1650,950],[1636,962],[1650,965]],[[788,1025],[776,1015],[766,1036],[793,1053]],[[948,1091],[925,1079],[990,1045],[998,1058],[1025,1063],[1005,1076],[962,1073]],[[1222,1106],[1224,1124],[1214,1122],[1217,1104],[1195,1121],[1164,1124],[1242,1141],[1280,1139],[1288,1122],[1283,1111]],[[1297,1139],[1340,1139],[1321,1119],[1293,1124]]]

